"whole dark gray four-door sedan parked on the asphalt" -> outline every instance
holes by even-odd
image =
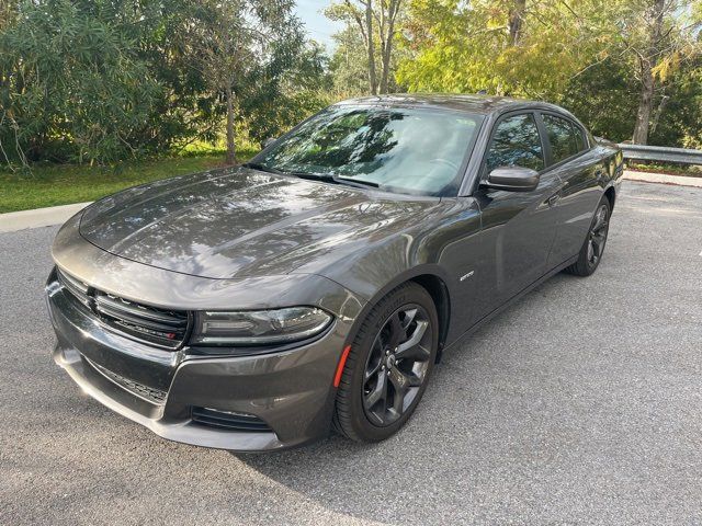
[[[64,225],[54,357],[173,441],[382,441],[442,353],[555,273],[596,271],[621,179],[621,152],[551,104],[346,101],[241,167]]]

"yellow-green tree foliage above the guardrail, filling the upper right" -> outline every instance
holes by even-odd
[[[643,137],[699,145],[699,9],[676,0],[411,0],[397,79],[410,91],[552,101],[620,141],[645,108]]]

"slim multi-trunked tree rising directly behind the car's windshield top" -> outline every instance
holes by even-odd
[[[369,89],[373,95],[389,91],[393,50],[401,7],[403,0],[375,0],[375,3],[373,0],[343,0],[325,11],[330,20],[343,21],[359,28],[365,47]],[[378,54],[375,49],[376,41]],[[376,55],[381,62],[380,79],[375,66]]]

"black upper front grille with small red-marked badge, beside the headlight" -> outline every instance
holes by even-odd
[[[188,335],[190,316],[113,296],[58,270],[64,287],[105,325],[137,341],[167,348],[180,347]]]

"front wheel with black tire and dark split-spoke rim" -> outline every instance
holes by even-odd
[[[335,431],[356,442],[380,442],[395,434],[427,388],[438,347],[439,319],[429,293],[406,283],[387,294],[351,343],[337,391]]]

